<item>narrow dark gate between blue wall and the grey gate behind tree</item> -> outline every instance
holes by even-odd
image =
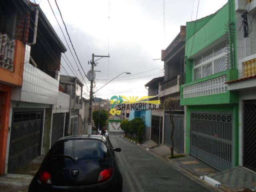
[[[157,144],[162,143],[163,117],[152,115],[151,118],[151,139]]]

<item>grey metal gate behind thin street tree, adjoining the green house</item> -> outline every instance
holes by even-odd
[[[177,153],[184,153],[184,116],[181,114],[174,114],[174,151]],[[170,114],[165,114],[164,116],[164,144],[168,147],[172,146],[171,142],[171,122]]]

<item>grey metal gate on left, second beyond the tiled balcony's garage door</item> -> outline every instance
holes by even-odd
[[[52,117],[52,141],[51,146],[63,136],[64,113],[54,113]]]

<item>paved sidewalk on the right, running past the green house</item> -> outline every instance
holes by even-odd
[[[144,142],[140,145],[140,147],[172,162],[179,168],[182,168],[195,176],[208,176],[220,182],[221,186],[218,188],[222,191],[256,191],[256,172],[253,172],[247,168],[238,166],[236,168],[220,172],[219,170],[216,170],[215,168],[188,154],[182,154],[184,157],[170,159],[166,157],[170,155],[170,148],[166,147],[165,145],[157,145],[152,140]]]

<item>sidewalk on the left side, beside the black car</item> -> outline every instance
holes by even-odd
[[[0,192],[27,192],[29,184],[43,159],[43,155],[39,156],[15,174],[0,176]]]

